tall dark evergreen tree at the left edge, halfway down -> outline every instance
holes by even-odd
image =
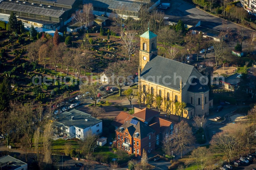
[[[6,78],[0,83],[0,111],[3,111],[9,105],[10,101],[10,84]]]

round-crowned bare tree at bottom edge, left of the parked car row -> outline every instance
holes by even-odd
[[[209,167],[211,156],[211,152],[206,147],[198,147],[191,152],[191,157],[195,159],[199,170],[204,170]]]

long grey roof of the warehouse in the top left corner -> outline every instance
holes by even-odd
[[[11,1],[12,2],[12,1]],[[69,8],[60,8],[60,7],[48,7],[47,5],[39,6],[37,5],[27,5],[30,3],[10,3],[7,1],[2,1],[0,3],[0,9],[6,9],[10,11],[20,11],[24,13],[37,14],[49,17],[60,17],[64,14],[65,10],[69,10]],[[57,10],[58,9],[58,10]]]

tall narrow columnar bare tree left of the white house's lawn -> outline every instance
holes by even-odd
[[[44,134],[43,134],[43,145],[44,145],[44,159],[43,162],[45,163],[45,168],[47,169],[51,169],[51,163],[52,163],[52,159],[51,159],[51,137],[53,135],[52,132],[52,124],[51,122],[47,123],[44,126]]]

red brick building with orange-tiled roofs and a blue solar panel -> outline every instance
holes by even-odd
[[[116,127],[117,148],[141,155],[143,149],[152,152],[156,145],[171,135],[173,123],[152,109],[136,110],[133,115],[120,112],[111,124]]]

